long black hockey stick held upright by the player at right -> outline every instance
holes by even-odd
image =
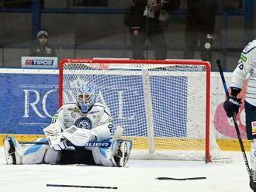
[[[226,97],[229,98],[230,95],[228,93],[227,84],[226,84],[226,81],[225,81],[225,77],[223,75],[223,69],[221,67],[220,60],[216,60],[216,63],[217,63],[217,67],[218,67],[219,72],[220,72],[220,77],[221,77],[221,80],[222,80],[222,84],[223,84],[223,87],[224,87]],[[236,120],[236,114],[235,113],[232,115],[232,119],[233,119],[234,126],[235,126],[235,129],[236,129],[236,132],[237,132],[237,139],[238,139],[239,144],[240,144],[240,149],[241,149],[243,157],[244,157],[244,163],[245,163],[245,166],[247,168],[247,173],[249,175],[251,183],[254,183],[253,179],[252,179],[252,176],[251,176],[251,169],[250,169],[250,166],[249,166],[249,163],[248,163],[248,160],[247,160],[247,156],[246,156],[246,153],[245,153],[244,143],[241,139],[240,130],[239,130],[238,125],[237,125],[237,120]],[[255,186],[254,186],[254,188],[255,188]]]

